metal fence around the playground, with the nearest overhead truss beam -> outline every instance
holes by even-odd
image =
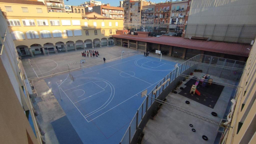
[[[184,76],[187,76],[191,72],[194,72],[194,69],[198,67],[197,65],[205,65],[205,67],[209,70],[210,64],[214,64],[215,67],[220,67],[222,70],[230,68],[229,66],[232,65],[233,69],[238,69],[242,72],[245,62],[224,58],[221,59],[219,57],[198,54],[188,59],[184,63],[180,64],[178,67],[174,68],[167,76],[160,80],[160,82],[147,94],[147,97],[144,99],[140,107],[137,109],[136,114],[133,116],[119,144],[137,143],[137,139],[140,136],[140,132],[142,132],[147,121],[149,120],[149,116],[151,116],[150,114],[153,113],[154,106],[156,106],[156,103],[159,102],[156,101],[156,99],[160,99],[161,101],[161,99],[165,98],[172,89],[177,87],[177,83],[181,81],[184,78]],[[204,69],[203,71],[205,70],[206,69]],[[208,70],[206,73],[208,73]],[[222,70],[218,71],[218,73],[222,73]],[[214,73],[216,74],[216,71]],[[163,95],[161,95],[162,93]],[[149,99],[149,97],[151,98]],[[185,112],[191,116],[205,120],[211,124],[218,125],[219,127],[226,127],[227,129],[230,127],[229,125],[223,125],[221,122],[211,120],[209,118],[195,114],[183,108],[174,105],[172,105],[171,107],[179,111]]]

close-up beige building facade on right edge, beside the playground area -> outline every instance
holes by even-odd
[[[255,143],[256,140],[256,44],[251,48],[246,62],[239,88],[236,91],[235,102],[228,119],[232,129],[222,135],[222,144],[226,143]]]

